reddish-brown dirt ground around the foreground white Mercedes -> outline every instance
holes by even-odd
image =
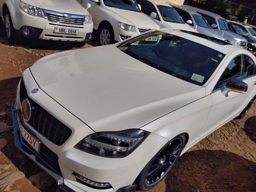
[[[59,191],[54,180],[15,147],[11,106],[24,69],[45,55],[79,49],[75,46],[72,43],[35,39],[21,39],[16,44],[10,44],[0,24],[0,123],[10,127],[9,131],[0,133],[0,149],[5,146],[1,150],[3,153],[0,152],[0,166],[4,167],[0,168],[0,174],[21,174],[21,179],[13,180],[2,190]],[[92,46],[95,44],[89,42],[83,48]],[[228,122],[189,149],[165,180],[150,192],[256,191],[255,124],[254,103],[244,119]]]

